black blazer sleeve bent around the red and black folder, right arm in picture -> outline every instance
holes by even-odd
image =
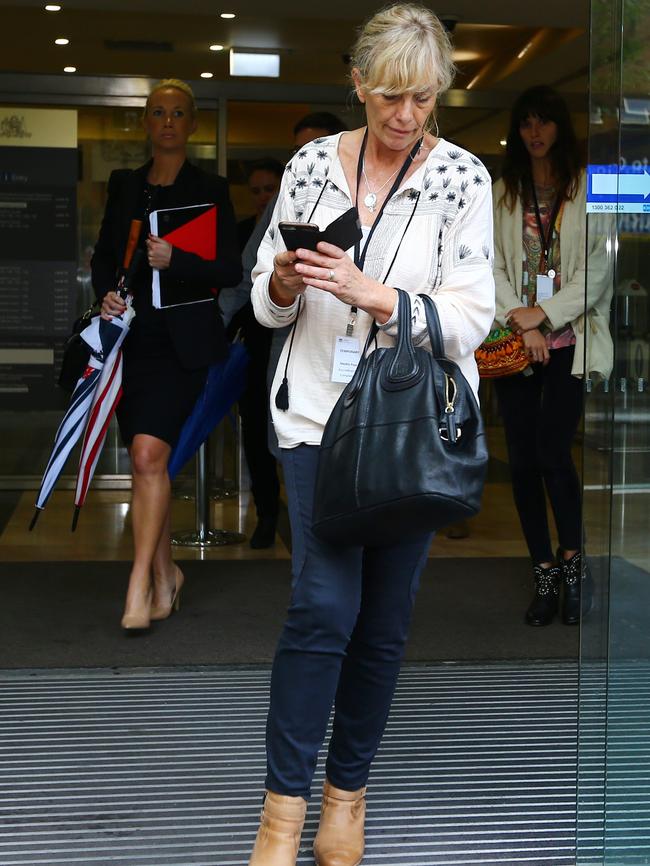
[[[210,197],[217,205],[216,259],[208,261],[195,253],[188,253],[174,247],[169,264],[169,273],[174,279],[191,281],[194,285],[205,289],[236,286],[242,274],[237,225],[228,193],[228,183],[221,177],[215,177],[214,181],[216,183],[210,191]]]

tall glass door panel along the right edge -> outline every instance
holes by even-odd
[[[593,382],[585,424],[596,592],[582,630],[578,862],[608,866],[650,863],[649,13],[647,0],[592,3],[590,189],[613,194],[594,195],[589,233],[612,247],[614,368]]]

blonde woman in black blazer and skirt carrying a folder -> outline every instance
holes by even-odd
[[[226,337],[217,291],[241,279],[235,217],[223,178],[186,160],[186,144],[197,126],[196,105],[185,82],[166,79],[149,95],[143,125],[152,159],[141,168],[111,174],[108,201],[92,258],[92,280],[102,316],[124,312],[114,291],[132,219],[152,210],[215,203],[217,256],[206,261],[148,233],[140,245],[144,264],[132,280],[136,316],[124,341],[123,395],[117,408],[122,439],[133,472],[132,523],[135,555],[122,627],[147,629],[178,607],[183,574],[170,543],[170,482],[167,462],[180,430],[205,384],[208,365],[224,357]],[[205,291],[206,301],[155,309],[152,269],[168,270],[177,284]]]

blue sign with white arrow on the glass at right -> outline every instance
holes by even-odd
[[[587,213],[650,213],[645,166],[587,166]]]

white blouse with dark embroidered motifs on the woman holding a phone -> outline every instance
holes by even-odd
[[[290,307],[276,306],[269,297],[273,257],[285,249],[278,222],[306,221],[323,187],[312,222],[323,228],[351,206],[352,195],[338,159],[339,138],[316,139],[287,166],[253,271],[253,308],[258,321],[266,327],[290,324],[298,308],[297,302]],[[415,215],[409,223],[414,207]],[[426,162],[386,204],[368,248],[364,272],[410,294],[414,342],[423,345],[428,335],[417,294],[426,292],[432,296],[445,352],[478,391],[474,350],[489,332],[494,318],[491,182],[480,160],[440,139]],[[304,292],[289,361],[288,411],[277,409],[275,395],[284,375],[289,340],[271,388],[271,412],[281,448],[320,444],[325,423],[344,387],[332,382],[330,373],[334,339],[345,334],[349,311],[349,306],[328,292],[309,286]],[[361,341],[371,321],[367,313],[359,311],[355,336]],[[381,326],[379,345],[392,345],[396,335],[394,311]]]

